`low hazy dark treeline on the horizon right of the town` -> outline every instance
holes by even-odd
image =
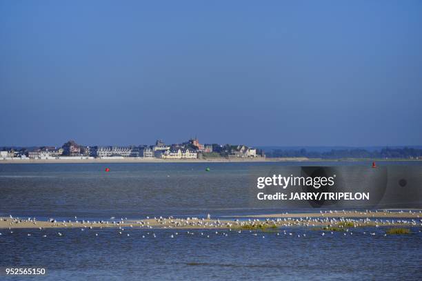
[[[267,157],[307,157],[322,159],[343,159],[343,158],[401,158],[415,159],[422,158],[422,149],[418,148],[383,148],[379,151],[367,151],[363,148],[353,149],[332,149],[326,152],[300,150],[274,149],[266,153]]]

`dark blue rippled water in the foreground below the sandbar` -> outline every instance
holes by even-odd
[[[15,230],[0,236],[0,266],[46,266],[50,280],[422,278],[418,229],[412,229],[411,235],[386,237],[381,229],[359,229],[346,236],[321,236],[321,231],[301,228],[285,230],[292,235],[283,231],[279,236],[274,232],[254,236],[250,231],[192,231],[194,235],[190,235],[161,229],[154,230],[157,238],[153,238],[152,231],[145,229],[125,229],[122,235],[117,229],[66,229],[59,237],[57,229]],[[171,238],[175,232],[179,235]],[[28,233],[32,235],[28,237]]]

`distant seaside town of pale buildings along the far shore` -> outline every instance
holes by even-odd
[[[1,148],[0,159],[204,159],[204,158],[258,158],[263,151],[242,144],[200,144],[197,138],[182,144],[165,144],[158,139],[154,145],[139,146],[84,146],[70,140],[61,147]]]

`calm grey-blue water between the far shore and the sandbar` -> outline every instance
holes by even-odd
[[[380,165],[405,164],[422,165]],[[282,211],[282,204],[278,210],[251,204],[250,173],[305,165],[370,166],[370,162],[1,164],[0,216],[109,219]]]

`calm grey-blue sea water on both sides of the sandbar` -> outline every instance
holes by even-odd
[[[250,184],[250,169],[306,164],[370,165],[2,164],[0,216],[109,220],[112,216],[277,212],[283,209],[251,209],[247,197],[241,196]],[[205,171],[207,167],[210,172]],[[284,235],[284,230],[292,235]],[[256,236],[249,231],[193,231],[192,235],[166,229],[125,229],[119,235],[117,229],[66,229],[59,237],[57,229],[15,229],[13,233],[1,229],[0,267],[47,267],[48,274],[39,280],[420,280],[419,230],[384,237],[382,229],[325,236],[303,228]],[[376,235],[368,235],[372,231]]]

